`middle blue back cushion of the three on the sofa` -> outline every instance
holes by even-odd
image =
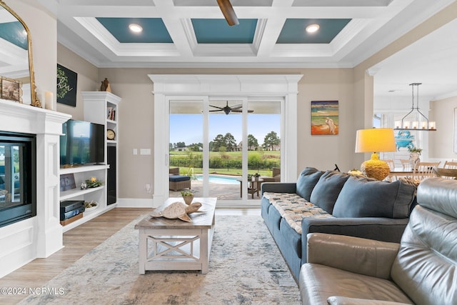
[[[338,198],[338,194],[340,194],[349,176],[351,175],[339,171],[326,171],[319,178],[316,186],[314,186],[309,201],[328,213],[333,214],[333,206]]]

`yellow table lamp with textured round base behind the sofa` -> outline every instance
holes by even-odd
[[[391,128],[360,129],[356,137],[356,153],[372,152],[371,159],[364,161],[360,170],[368,178],[383,180],[391,168],[379,160],[378,152],[396,151],[395,136]]]

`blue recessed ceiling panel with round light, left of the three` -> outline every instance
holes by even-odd
[[[97,18],[120,43],[173,43],[161,18]],[[138,24],[141,33],[132,33],[129,24]]]

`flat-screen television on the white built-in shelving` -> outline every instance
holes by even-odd
[[[68,120],[60,136],[60,165],[104,164],[105,126],[88,121]]]

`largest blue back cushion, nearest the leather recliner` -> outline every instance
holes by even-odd
[[[416,188],[401,181],[351,176],[333,207],[335,217],[407,218]]]

